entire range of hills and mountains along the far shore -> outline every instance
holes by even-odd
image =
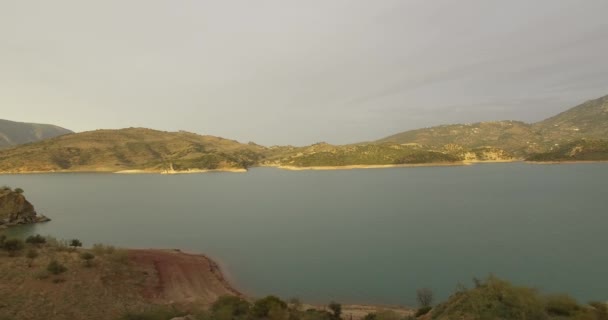
[[[0,172],[197,172],[481,161],[608,160],[608,96],[536,123],[492,121],[405,131],[373,142],[264,147],[145,128],[72,133],[0,121]],[[37,141],[38,140],[38,141]],[[18,145],[25,143],[23,145]],[[2,146],[2,145],[0,145]]]

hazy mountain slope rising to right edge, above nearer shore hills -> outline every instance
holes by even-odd
[[[554,117],[528,124],[492,121],[453,124],[397,133],[377,143],[418,143],[432,147],[495,147],[520,157],[550,151],[556,144],[608,136],[608,96],[587,101]]]

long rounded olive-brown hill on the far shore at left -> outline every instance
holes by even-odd
[[[245,168],[264,149],[182,131],[96,130],[0,151],[0,172]]]

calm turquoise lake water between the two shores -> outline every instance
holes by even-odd
[[[204,252],[249,294],[413,305],[494,273],[608,299],[608,164],[0,175],[53,221],[11,230]]]

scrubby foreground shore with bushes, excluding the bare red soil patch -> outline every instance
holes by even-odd
[[[352,316],[337,302],[315,307],[276,296],[257,300],[220,296],[210,306],[161,302],[142,293],[148,271],[138,269],[125,250],[100,244],[82,249],[70,246],[80,243],[73,240],[35,235],[23,241],[0,234],[0,319],[350,320]],[[430,289],[418,289],[416,310],[379,308],[354,319],[608,320],[604,302],[580,304],[568,295],[542,295],[494,276],[476,280],[471,289],[461,286],[438,305],[433,305],[433,297]]]

